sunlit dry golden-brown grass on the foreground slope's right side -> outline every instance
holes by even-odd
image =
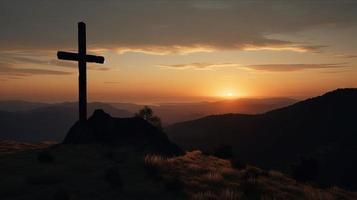
[[[174,158],[147,155],[145,164],[155,168],[163,181],[172,177],[180,179],[184,184],[183,191],[194,200],[357,199],[356,193],[336,187],[314,188],[278,171],[268,172],[254,166],[234,169],[229,161],[200,151]]]

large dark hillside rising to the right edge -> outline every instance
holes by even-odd
[[[264,114],[225,114],[167,127],[186,149],[225,144],[236,157],[289,171],[299,157],[319,163],[318,182],[357,188],[357,89],[338,89]]]

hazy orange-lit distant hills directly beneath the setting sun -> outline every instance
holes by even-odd
[[[207,115],[223,113],[258,114],[291,105],[296,100],[290,98],[239,98],[196,103],[158,103],[150,105],[164,125],[198,119]],[[110,103],[116,108],[137,112],[143,105],[130,103]]]

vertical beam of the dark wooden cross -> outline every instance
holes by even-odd
[[[79,122],[87,120],[87,62],[86,62],[86,24],[78,23],[78,91]]]

